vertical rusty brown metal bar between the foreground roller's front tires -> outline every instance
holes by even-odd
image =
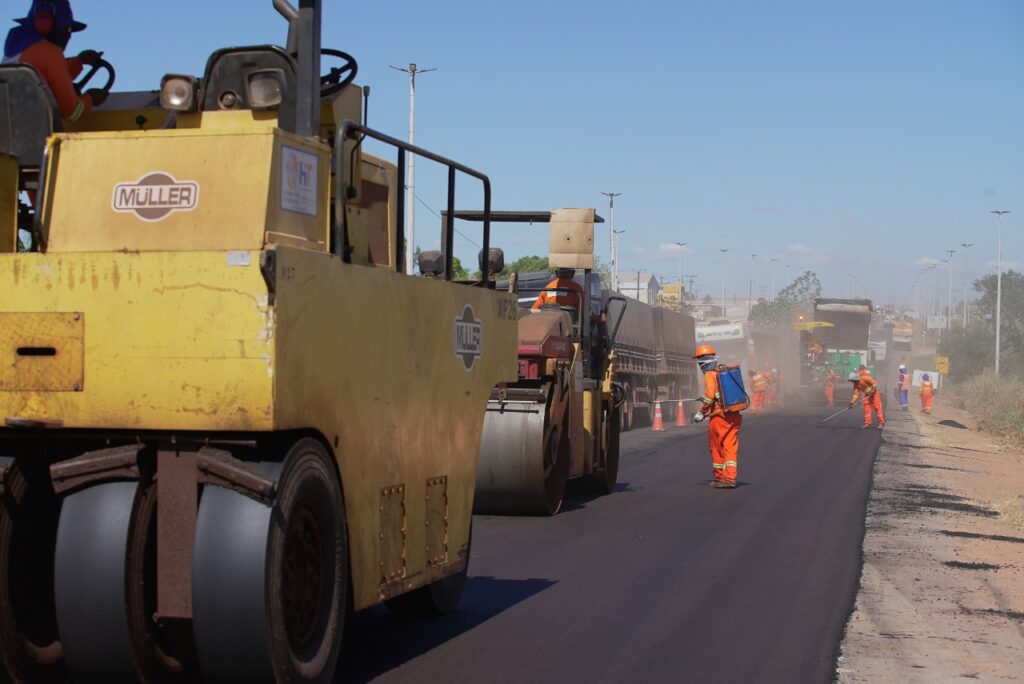
[[[191,618],[196,452],[157,454],[157,614]]]

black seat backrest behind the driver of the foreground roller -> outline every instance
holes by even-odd
[[[0,65],[0,153],[38,168],[46,138],[61,130],[49,86],[29,65]]]

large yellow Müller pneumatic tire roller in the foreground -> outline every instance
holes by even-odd
[[[360,123],[319,0],[273,6],[287,47],[218,50],[74,132],[31,67],[0,67],[15,682],[329,682],[349,608],[462,592],[517,306],[488,260],[477,287],[451,257],[437,280],[406,272],[404,156],[443,165],[450,198],[457,176],[482,185],[486,255],[489,181]]]

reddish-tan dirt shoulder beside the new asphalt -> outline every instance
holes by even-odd
[[[939,399],[887,412],[841,684],[1024,680],[1024,456]]]

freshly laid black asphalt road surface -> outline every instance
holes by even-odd
[[[460,609],[359,613],[339,681],[831,681],[880,435],[827,414],[745,417],[732,490],[702,426],[625,434],[618,491],[477,516]]]

